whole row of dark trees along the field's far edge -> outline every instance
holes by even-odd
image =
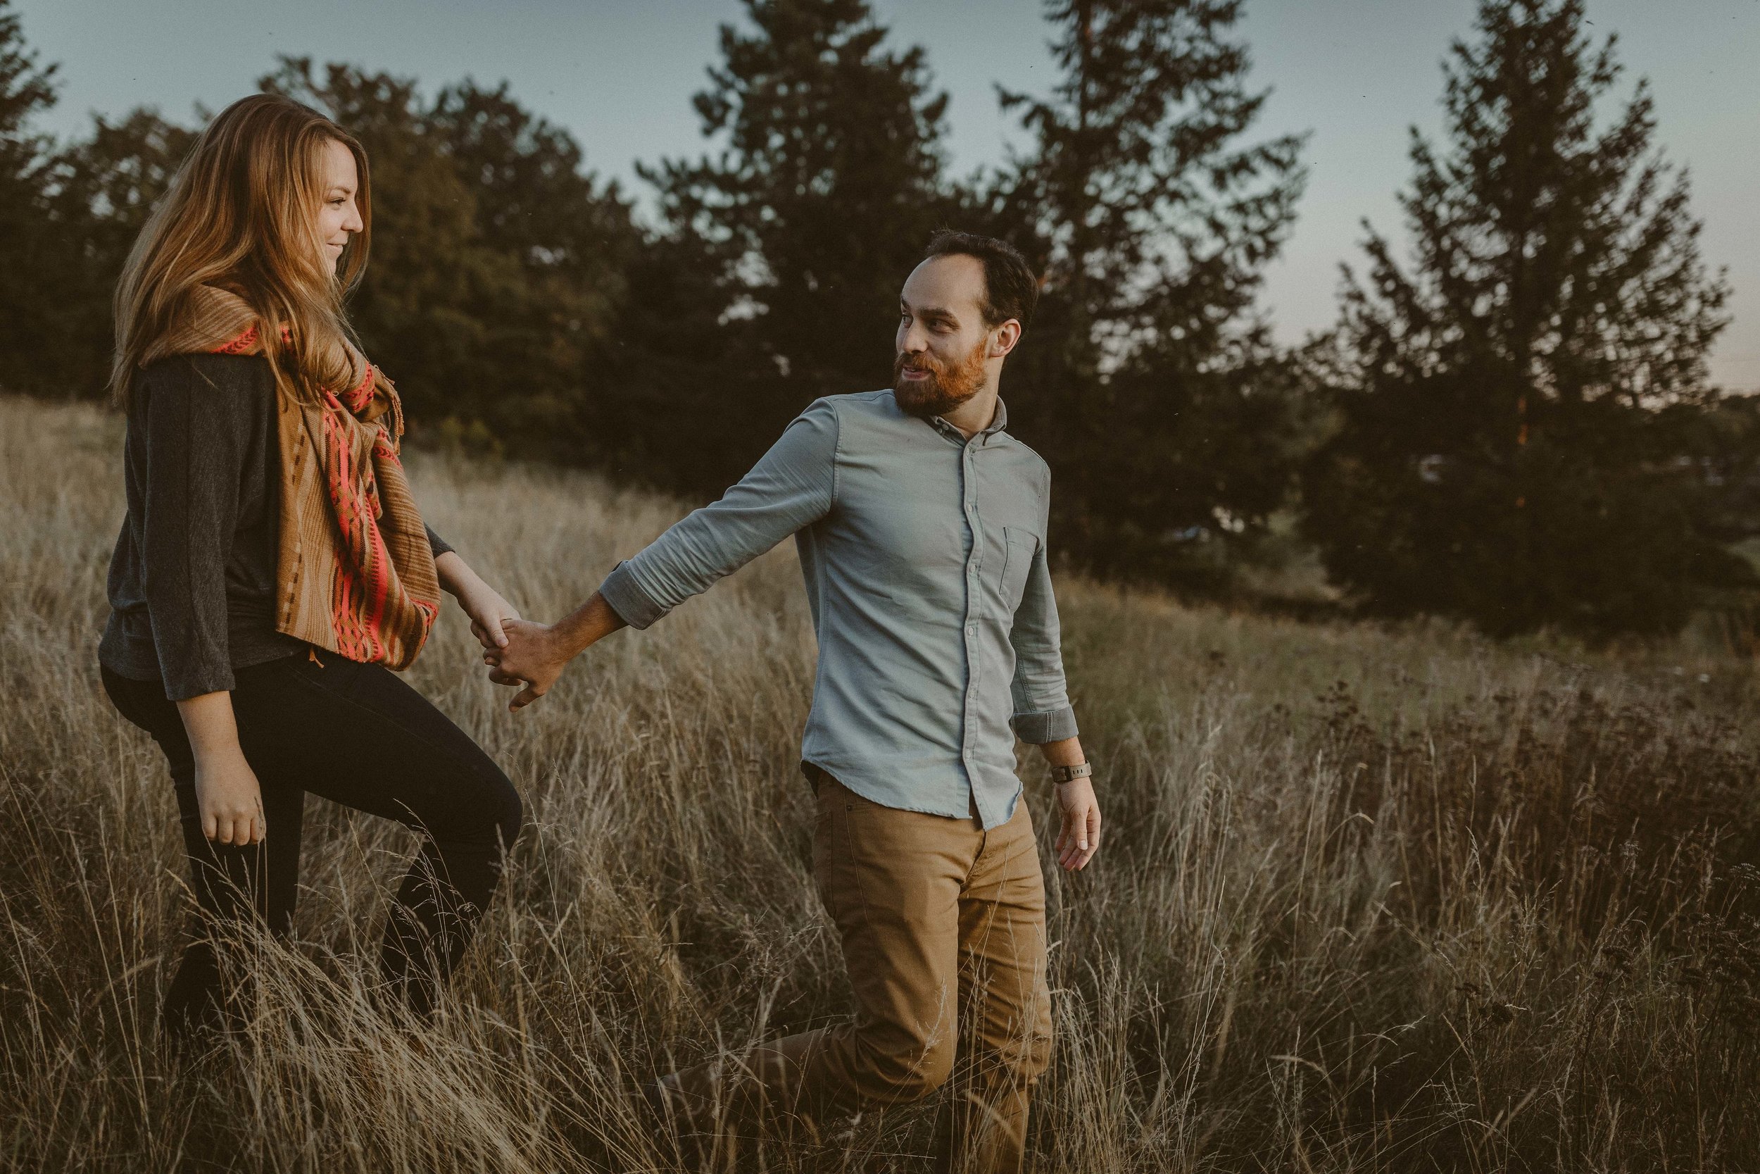
[[[954,225],[1045,275],[1005,394],[1079,569],[1228,591],[1295,519],[1369,613],[1605,635],[1742,605],[1760,414],[1705,368],[1728,289],[1582,0],[1482,0],[1445,141],[1412,132],[1410,255],[1366,225],[1297,349],[1257,303],[1302,137],[1257,128],[1241,11],[1051,0],[1056,83],[998,93],[1028,146],[956,178],[922,48],[866,0],[746,0],[693,97],[711,150],[639,167],[648,215],[505,83],[283,58],[260,84],[370,153],[350,313],[419,438],[713,496],[813,398],[891,382],[899,283]],[[55,97],[0,0],[0,387],[97,398],[111,287],[195,127],[53,143]]]

